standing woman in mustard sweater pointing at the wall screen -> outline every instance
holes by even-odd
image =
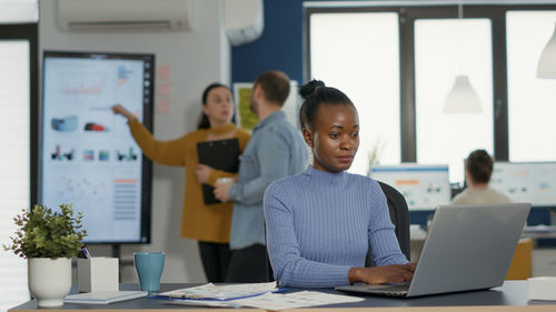
[[[128,119],[131,134],[147,158],[162,164],[186,167],[181,236],[199,241],[208,281],[224,282],[230,256],[228,242],[232,203],[206,205],[201,184],[214,187],[217,179],[236,178],[237,172],[224,172],[199,164],[197,143],[237,138],[239,150],[244,152],[250,134],[231,123],[234,102],[230,90],[220,83],[208,85],[202,93],[202,119],[198,130],[172,141],[156,140],[123,107],[115,105],[112,111]]]

